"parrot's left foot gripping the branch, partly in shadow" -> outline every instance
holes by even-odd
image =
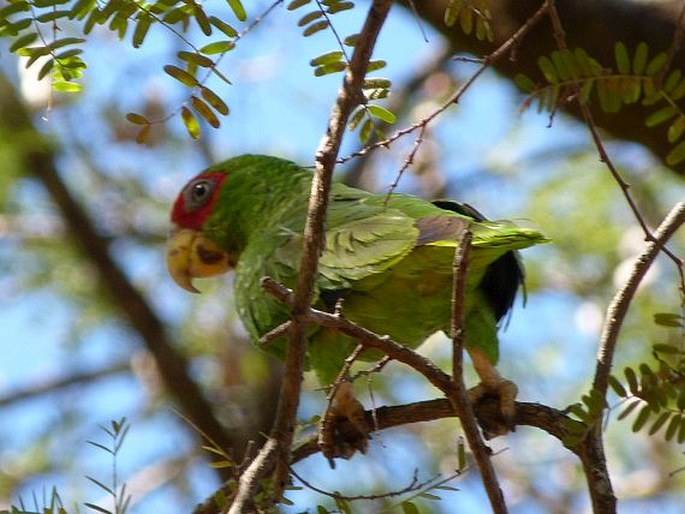
[[[319,447],[331,467],[335,467],[335,457],[349,459],[357,451],[366,453],[369,432],[364,406],[355,398],[352,384],[340,383],[319,428]]]

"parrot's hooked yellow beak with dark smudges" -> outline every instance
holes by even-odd
[[[225,273],[234,265],[227,252],[202,232],[173,228],[166,248],[166,264],[171,278],[191,293],[199,293],[194,278]]]

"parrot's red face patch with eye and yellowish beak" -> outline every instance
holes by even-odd
[[[194,278],[210,277],[235,267],[235,258],[210,239],[204,229],[219,199],[227,174],[204,172],[188,182],[171,210],[171,233],[167,242],[169,274],[186,291],[198,293]]]

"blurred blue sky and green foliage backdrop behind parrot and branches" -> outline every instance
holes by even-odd
[[[268,6],[254,2],[248,14],[252,19]],[[336,21],[342,32],[355,30],[363,9],[358,10]],[[48,171],[36,164],[36,154],[52,163],[54,180],[159,318],[168,343],[187,359],[190,376],[230,434],[235,458],[242,459],[247,441],[259,441],[270,426],[280,363],[246,340],[233,310],[231,277],[206,281],[203,294],[188,295],[167,277],[163,246],[171,201],[208,163],[246,152],[312,162],[339,76],[312,75],[308,60],[335,42],[325,33],[302,38],[297,19],[278,6],[221,63],[233,85],[217,80],[212,87],[226,98],[231,114],[219,130],[203,126],[199,141],[188,138],[175,117],[154,125],[139,145],[137,128],[124,119],[128,111],[163,117],[186,100],[187,90],[161,72],[181,46],[173,34],[151,32],[148,44],[132,50],[107,30],[93,31],[78,95],[49,93],[0,46],[0,508],[34,493],[49,496],[53,485],[68,506],[107,505],[102,491],[83,477],[106,476],[111,461],[85,441],[100,437],[98,424],[124,416],[131,429],[118,466],[133,494],[131,511],[189,512],[220,479],[132,327],[135,313],[127,309],[133,306],[108,289],[107,270],[78,242],[88,227],[75,225],[56,206],[59,193],[46,188]],[[68,33],[68,24],[63,29]],[[393,80],[393,95],[384,105],[398,115],[396,127],[430,112],[476,69],[452,59],[443,36],[400,8],[376,54],[387,60],[384,73]],[[590,387],[604,312],[645,243],[587,129],[562,114],[550,120],[521,112],[522,98],[509,81],[485,73],[458,105],[428,126],[399,188],[466,201],[488,217],[538,227],[554,240],[525,252],[527,304],[523,309],[518,302],[503,332],[500,367],[519,385],[522,399],[564,408]],[[340,179],[386,190],[413,142],[409,136],[351,160],[340,166]],[[634,143],[607,136],[605,144],[640,212],[656,226],[683,198],[682,178]],[[355,136],[348,137],[343,154],[357,145]],[[669,247],[685,255],[682,230]],[[663,256],[623,326],[618,372],[653,362],[653,344],[683,344],[682,329],[654,323],[659,312],[682,312],[676,268]],[[421,351],[447,366],[444,343],[436,336]],[[367,406],[436,394],[392,363],[358,387]],[[320,414],[322,401],[309,387],[302,419]],[[613,401],[608,459],[622,512],[680,512],[682,445],[666,443],[659,434],[631,433],[630,419],[616,420],[619,399]],[[303,430],[312,428],[305,423]],[[557,441],[520,428],[491,444],[512,512],[587,510],[584,478]],[[415,469],[420,480],[449,476],[458,453],[458,423],[442,420],[378,434],[368,456],[341,462],[335,471],[320,456],[295,469],[323,489],[377,494],[402,489]],[[459,490],[441,491],[442,500],[419,498],[417,505],[426,512],[481,510],[476,473],[467,471],[449,485]],[[291,512],[332,505],[307,487],[288,497],[296,504],[286,509]],[[389,498],[358,508],[380,511],[397,503]]]

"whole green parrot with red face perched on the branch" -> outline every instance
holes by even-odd
[[[311,170],[279,157],[241,155],[201,172],[173,203],[166,248],[171,278],[198,292],[194,279],[234,270],[237,313],[254,342],[289,319],[289,308],[260,283],[268,276],[288,288],[296,284],[312,178]],[[498,330],[524,282],[518,250],[548,241],[539,231],[488,221],[452,200],[334,182],[312,306],[331,311],[342,302],[347,319],[410,348],[449,333],[462,227],[472,234],[462,293],[465,348],[481,380],[473,397],[497,394],[511,421],[517,390],[496,369]],[[283,336],[264,349],[283,358],[286,345]],[[330,386],[356,346],[347,335],[309,326],[307,366]],[[342,412],[359,408],[355,400],[340,405]]]

